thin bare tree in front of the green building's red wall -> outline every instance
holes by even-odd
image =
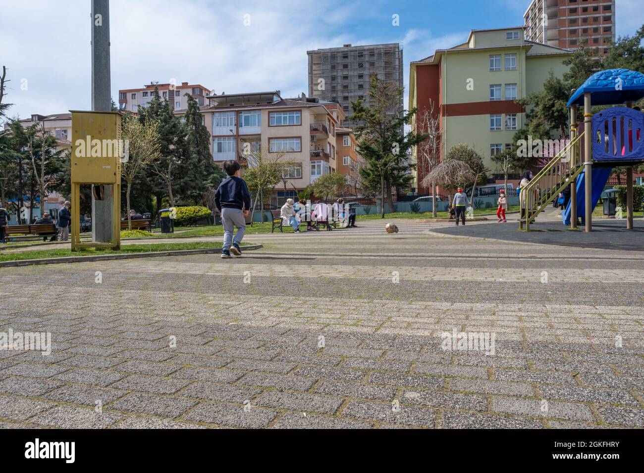
[[[416,129],[419,133],[428,134],[416,149],[417,173],[427,176],[440,163],[440,145],[442,143],[442,126],[438,111],[434,109],[435,102],[430,99],[430,106],[419,113],[416,118]],[[431,214],[437,217],[436,183],[431,183]]]

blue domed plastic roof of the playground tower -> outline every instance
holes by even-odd
[[[583,94],[591,93],[592,105],[614,105],[636,102],[644,97],[644,74],[628,69],[607,69],[591,75],[568,100],[583,106]]]

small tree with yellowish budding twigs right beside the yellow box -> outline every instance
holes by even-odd
[[[126,209],[128,213],[128,230],[132,229],[129,217],[129,194],[132,181],[139,172],[153,165],[161,156],[161,140],[158,124],[146,120],[145,124],[135,118],[124,118],[121,124],[121,139],[128,140],[128,158],[121,164],[121,176],[128,185],[126,190]]]

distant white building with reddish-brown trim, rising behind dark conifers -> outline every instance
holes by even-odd
[[[152,93],[158,88],[161,98],[166,99],[173,104],[175,110],[187,108],[187,97],[191,95],[200,106],[207,105],[206,97],[210,95],[211,90],[199,84],[189,84],[182,82],[179,84],[149,84],[140,89],[122,89],[118,91],[118,109],[121,111],[137,112],[138,107],[147,107],[152,100]]]

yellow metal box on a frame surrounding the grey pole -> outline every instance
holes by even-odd
[[[120,155],[103,145],[120,142],[120,113],[71,110],[71,251],[78,248],[120,249]],[[98,149],[91,144],[99,140]],[[110,152],[105,153],[105,151]],[[120,149],[117,147],[117,149]],[[81,185],[112,186],[112,239],[81,243]]]

